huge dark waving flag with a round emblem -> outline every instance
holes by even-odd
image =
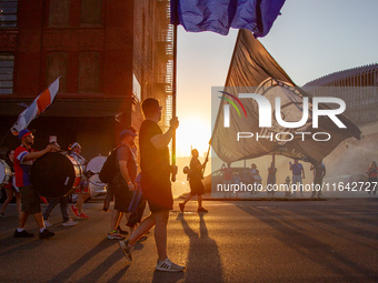
[[[267,121],[259,121],[257,101],[242,98],[240,93],[259,94],[270,102],[271,109],[260,109],[260,111],[271,111],[269,127],[259,127],[259,122]],[[230,103],[228,101],[232,100],[232,95],[239,98],[239,105],[235,102],[235,107],[225,108]],[[337,118],[346,128],[339,128],[327,115],[320,115],[318,128],[314,128],[312,97],[291,81],[248,30],[239,31],[222,98],[213,127],[211,145],[217,155],[227,163],[267,154],[281,154],[316,163],[321,162],[345,139],[360,138],[360,130],[341,114]],[[276,98],[280,98],[279,117],[282,120],[298,122],[304,117],[307,120],[306,123],[298,128],[288,128],[277,122]],[[304,115],[307,104],[308,112],[306,113],[305,110]],[[238,107],[243,107],[246,114],[239,115]],[[329,107],[320,103],[318,109],[327,110]],[[229,121],[229,127],[225,127],[226,119]],[[240,138],[241,132],[246,133],[245,138]]]

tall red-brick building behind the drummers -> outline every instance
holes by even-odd
[[[107,154],[120,130],[139,129],[142,99],[155,97],[169,112],[168,0],[0,0],[0,8],[1,153],[19,143],[9,131],[19,103],[58,77],[56,101],[29,125],[37,149],[57,135],[64,149],[80,142],[87,159]]]

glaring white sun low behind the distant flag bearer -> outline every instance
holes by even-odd
[[[202,158],[211,138],[210,121],[200,115],[183,115],[179,120],[180,127],[176,132],[177,156],[190,156],[191,149],[197,149]]]

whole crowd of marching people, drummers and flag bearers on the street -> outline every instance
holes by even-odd
[[[119,240],[119,245],[128,261],[132,261],[132,250],[137,242],[146,241],[149,231],[155,228],[155,241],[158,251],[158,262],[156,270],[180,272],[185,266],[180,266],[171,262],[168,257],[167,251],[167,225],[169,219],[169,211],[173,208],[173,198],[171,192],[171,175],[177,173],[177,168],[172,166],[169,161],[168,144],[170,143],[176,129],[179,127],[177,118],[171,119],[170,127],[166,132],[162,132],[158,122],[161,119],[161,107],[158,100],[149,98],[142,102],[142,112],[146,120],[142,122],[139,131],[139,154],[140,154],[140,169],[137,163],[138,149],[135,143],[137,131],[130,127],[119,134],[119,144],[113,149],[115,154],[115,175],[111,178],[107,186],[107,198],[103,204],[103,211],[109,211],[110,201],[113,200],[113,209],[111,211],[110,229],[108,233],[109,240]],[[52,226],[49,222],[52,210],[59,204],[62,225],[73,226],[78,222],[69,216],[69,198],[67,194],[59,198],[50,198],[42,213],[41,210],[41,195],[34,190],[30,172],[33,162],[44,154],[50,152],[61,152],[57,142],[49,143],[43,150],[36,151],[32,149],[34,142],[33,132],[24,129],[19,132],[18,138],[20,145],[14,151],[7,153],[7,166],[14,175],[16,182],[9,181],[4,188],[7,190],[7,200],[3,203],[0,216],[6,216],[6,209],[10,201],[16,196],[17,209],[19,212],[18,226],[13,233],[14,237],[32,237],[33,234],[26,230],[26,224],[29,215],[32,215],[38,228],[39,239],[49,239],[54,236],[54,233],[49,231],[48,228]],[[84,169],[88,161],[81,155],[81,145],[73,142],[69,145],[68,154]],[[191,151],[191,161],[188,168],[188,180],[190,184],[190,193],[183,202],[179,203],[181,212],[185,211],[186,204],[195,195],[198,200],[197,212],[208,212],[202,206],[202,195],[205,186],[202,183],[205,166],[208,162],[199,161],[198,150]],[[241,176],[232,172],[230,164],[223,164],[223,183],[231,184],[241,181]],[[289,176],[285,180],[288,184],[302,184],[305,179],[305,169],[302,164],[295,160],[294,163],[289,162],[289,170],[292,172],[292,178]],[[314,172],[314,183],[321,184],[326,175],[326,166],[324,163],[311,164],[310,170]],[[275,162],[271,162],[268,168],[267,184],[276,184],[277,168]],[[377,164],[372,162],[367,170],[369,182],[377,182]],[[138,174],[138,172],[140,172]],[[248,171],[249,181],[253,184],[262,183],[262,178],[255,163]],[[300,188],[300,186],[299,186]],[[83,212],[83,203],[90,196],[89,175],[82,174],[80,182],[72,188],[78,194],[76,204],[70,206],[70,210],[76,215],[76,219],[87,220],[89,215]],[[302,195],[302,191],[299,190]],[[257,194],[257,191],[251,193]],[[275,191],[269,191],[273,195]],[[290,192],[289,192],[290,193]],[[376,194],[376,191],[374,191]],[[229,196],[229,195],[225,195]],[[320,191],[312,191],[311,198],[321,198]],[[150,214],[142,219],[146,205],[149,205]],[[121,219],[126,218],[129,231],[120,228]]]

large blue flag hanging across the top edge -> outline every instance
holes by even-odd
[[[171,0],[171,23],[187,31],[228,34],[230,28],[265,37],[285,0]]]

